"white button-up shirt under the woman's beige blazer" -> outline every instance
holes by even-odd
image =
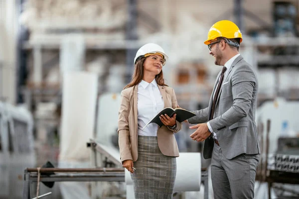
[[[164,108],[164,101],[155,79],[150,84],[142,80],[138,85],[137,95],[138,135],[157,136],[156,123],[151,123],[142,130]]]

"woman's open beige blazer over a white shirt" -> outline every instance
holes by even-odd
[[[164,101],[164,108],[176,108],[177,100],[173,89],[159,85],[158,88]],[[117,131],[119,134],[121,162],[125,160],[133,160],[135,162],[138,159],[137,89],[138,85],[125,89],[121,93],[122,100]],[[176,128],[174,130],[169,129],[165,125],[158,128],[158,146],[165,156],[179,156],[174,133],[178,132],[181,128],[182,125],[178,121],[176,121]]]

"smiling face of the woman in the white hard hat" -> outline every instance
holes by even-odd
[[[163,58],[160,55],[150,55],[144,62],[144,72],[158,75],[163,67]]]

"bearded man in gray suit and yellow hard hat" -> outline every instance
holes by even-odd
[[[215,199],[253,199],[260,147],[255,123],[258,80],[239,54],[242,34],[228,20],[209,30],[209,54],[224,66],[218,74],[209,106],[188,119],[193,140],[204,142],[203,157],[211,160]],[[204,123],[207,122],[207,123]]]

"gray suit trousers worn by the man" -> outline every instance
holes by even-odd
[[[214,144],[211,178],[214,199],[253,199],[260,155],[241,154],[231,160]]]

